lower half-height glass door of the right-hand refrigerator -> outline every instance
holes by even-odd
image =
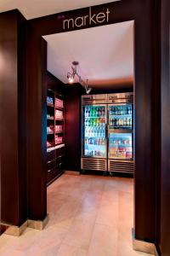
[[[109,159],[133,159],[132,133],[109,133]]]

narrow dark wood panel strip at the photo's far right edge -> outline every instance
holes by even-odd
[[[161,1],[161,255],[170,255],[170,2]]]

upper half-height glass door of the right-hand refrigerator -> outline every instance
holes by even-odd
[[[133,130],[133,104],[109,105],[109,130]]]

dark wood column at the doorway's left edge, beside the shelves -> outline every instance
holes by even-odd
[[[31,26],[27,37],[28,218],[42,220],[47,215],[47,44]]]

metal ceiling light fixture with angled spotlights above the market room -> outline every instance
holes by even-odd
[[[85,82],[84,80],[82,80],[81,76],[77,73],[77,66],[79,65],[79,62],[73,61],[72,65],[73,65],[73,67],[71,67],[72,73],[70,73],[70,72],[67,73],[67,79],[69,81],[69,84],[74,83],[75,75],[77,75],[79,83],[82,85],[82,87],[84,87],[84,89],[86,90],[86,93],[89,94],[90,91],[92,90],[92,88],[88,87],[88,79]]]

